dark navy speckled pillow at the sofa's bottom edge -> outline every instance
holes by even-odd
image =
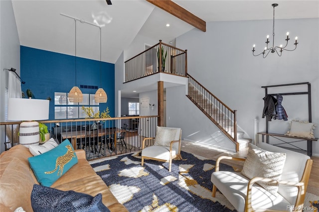
[[[61,191],[34,184],[31,192],[34,212],[109,212],[102,203],[102,194],[92,197],[74,191]]]

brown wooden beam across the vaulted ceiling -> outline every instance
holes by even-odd
[[[206,22],[171,0],[147,0],[197,29],[206,32]]]

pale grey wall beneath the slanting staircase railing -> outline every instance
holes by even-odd
[[[185,86],[166,89],[166,125],[182,128],[182,140],[235,150],[235,144],[186,97]]]

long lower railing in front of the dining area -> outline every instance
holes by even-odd
[[[155,137],[158,116],[40,121],[58,143],[69,139],[88,160],[140,151],[145,137]],[[58,123],[58,125],[57,125]],[[19,144],[20,122],[0,122],[5,150]],[[147,143],[153,145],[153,142]]]

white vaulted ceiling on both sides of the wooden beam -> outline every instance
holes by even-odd
[[[319,0],[174,0],[206,22],[319,17]],[[137,34],[165,43],[194,27],[146,0],[12,0],[20,45],[75,55],[75,21],[104,17],[102,61],[115,63]],[[102,15],[102,16],[101,16]],[[102,22],[99,22],[102,24]],[[170,23],[170,27],[165,27]],[[205,32],[203,32],[205,33]],[[100,60],[99,28],[77,21],[76,56]]]

